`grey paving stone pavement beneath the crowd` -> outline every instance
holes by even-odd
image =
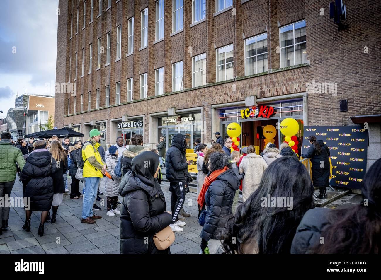
[[[18,178],[17,178],[18,180]],[[71,179],[68,177],[70,189]],[[167,210],[171,211],[171,192],[168,182],[162,182],[162,189],[166,198]],[[80,183],[82,193],[83,184]],[[13,186],[11,197],[22,197],[22,184],[16,181]],[[106,215],[106,197],[104,205],[94,211],[101,215],[102,219],[96,220],[96,224],[81,223],[82,198],[70,199],[70,195],[64,195],[62,204],[59,206],[56,223],[45,222],[44,236],[37,235],[40,224],[41,212],[33,212],[31,217],[30,232],[22,229],[25,221],[25,211],[22,207],[10,209],[9,227],[3,229],[0,236],[0,254],[119,254],[119,216]],[[121,200],[122,197],[119,197]],[[118,206],[120,210],[121,206]],[[184,209],[191,214],[185,218],[184,230],[175,233],[176,240],[171,246],[172,254],[199,253],[201,238],[199,237],[201,226],[197,221],[197,196],[188,193],[184,203]],[[50,211],[51,213],[51,211]]]

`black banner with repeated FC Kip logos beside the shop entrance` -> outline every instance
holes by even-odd
[[[311,146],[311,135],[323,140],[330,150],[330,185],[360,189],[367,171],[368,130],[359,126],[304,126],[302,154]]]

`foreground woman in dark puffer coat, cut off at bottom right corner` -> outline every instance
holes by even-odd
[[[381,158],[365,174],[361,192],[363,201],[357,206],[307,211],[296,230],[291,253],[381,253]]]

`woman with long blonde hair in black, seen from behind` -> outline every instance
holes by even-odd
[[[51,142],[49,152],[54,158],[54,160],[57,162],[57,172],[54,173],[52,176],[54,196],[52,203],[53,214],[51,215],[51,223],[54,224],[56,222],[56,213],[58,210],[58,206],[62,203],[65,192],[64,173],[67,170],[69,170],[69,166],[67,165],[66,152],[64,151],[64,148],[62,147],[60,142]]]

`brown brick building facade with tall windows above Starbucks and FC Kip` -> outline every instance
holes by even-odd
[[[198,137],[210,143],[215,131],[225,135],[226,122],[239,121],[241,108],[271,104],[282,108],[280,110],[290,107],[284,116],[296,116],[304,126],[350,126],[355,125],[351,117],[376,116],[368,119],[368,162],[381,156],[380,126],[375,121],[381,114],[380,2],[346,0],[343,3],[346,19],[342,22],[347,28],[338,30],[330,18],[330,1],[327,0],[160,1],[59,0],[56,82],[75,83],[76,92],[56,93],[57,126],[73,126],[85,135],[96,126],[105,131],[107,143],[115,142],[119,135],[126,139],[133,133],[143,133],[147,144],[155,144],[161,134],[168,137],[174,131],[190,128],[197,130],[197,133],[188,131],[192,146]],[[146,8],[147,25],[145,21],[142,24]],[[133,44],[129,46],[131,18]],[[144,46],[141,39],[146,37],[147,46]],[[101,52],[98,64],[99,38],[104,53]],[[266,43],[260,38],[266,38]],[[253,45],[249,44],[253,40],[257,42],[254,52]],[[228,52],[229,56],[232,53],[229,63],[221,56],[216,58],[219,48],[223,47],[226,47],[226,58]],[[197,72],[193,64],[204,54],[205,68]],[[255,60],[248,58],[252,55]],[[219,67],[221,61],[226,72]],[[182,89],[179,90],[176,88],[178,74],[174,70],[177,62],[182,62]],[[250,70],[253,65],[254,70]],[[162,79],[160,71],[155,72],[161,68]],[[141,75],[145,73],[147,98],[141,98],[145,93]],[[194,86],[196,75],[200,73],[205,73],[200,76],[205,84]],[[221,79],[222,73],[226,80]],[[328,88],[328,92],[324,86],[322,90],[309,90],[309,83],[327,83],[332,88]],[[162,91],[157,92],[163,94],[155,95],[156,86],[162,86]],[[109,106],[106,106],[106,91]],[[117,92],[120,92],[119,104]],[[128,101],[129,93],[131,101]],[[343,112],[341,100],[347,100],[347,110]],[[228,117],[234,112],[236,118]],[[175,128],[174,124],[180,122],[179,116],[184,117],[181,122],[185,128]],[[282,118],[273,118],[271,124],[275,125]],[[129,123],[134,121],[142,125],[134,127],[136,123]],[[127,136],[126,127],[131,128]],[[249,136],[242,145],[263,144],[253,136],[258,132],[256,126],[246,124],[244,130],[249,131]],[[276,142],[282,141],[280,135]]]

